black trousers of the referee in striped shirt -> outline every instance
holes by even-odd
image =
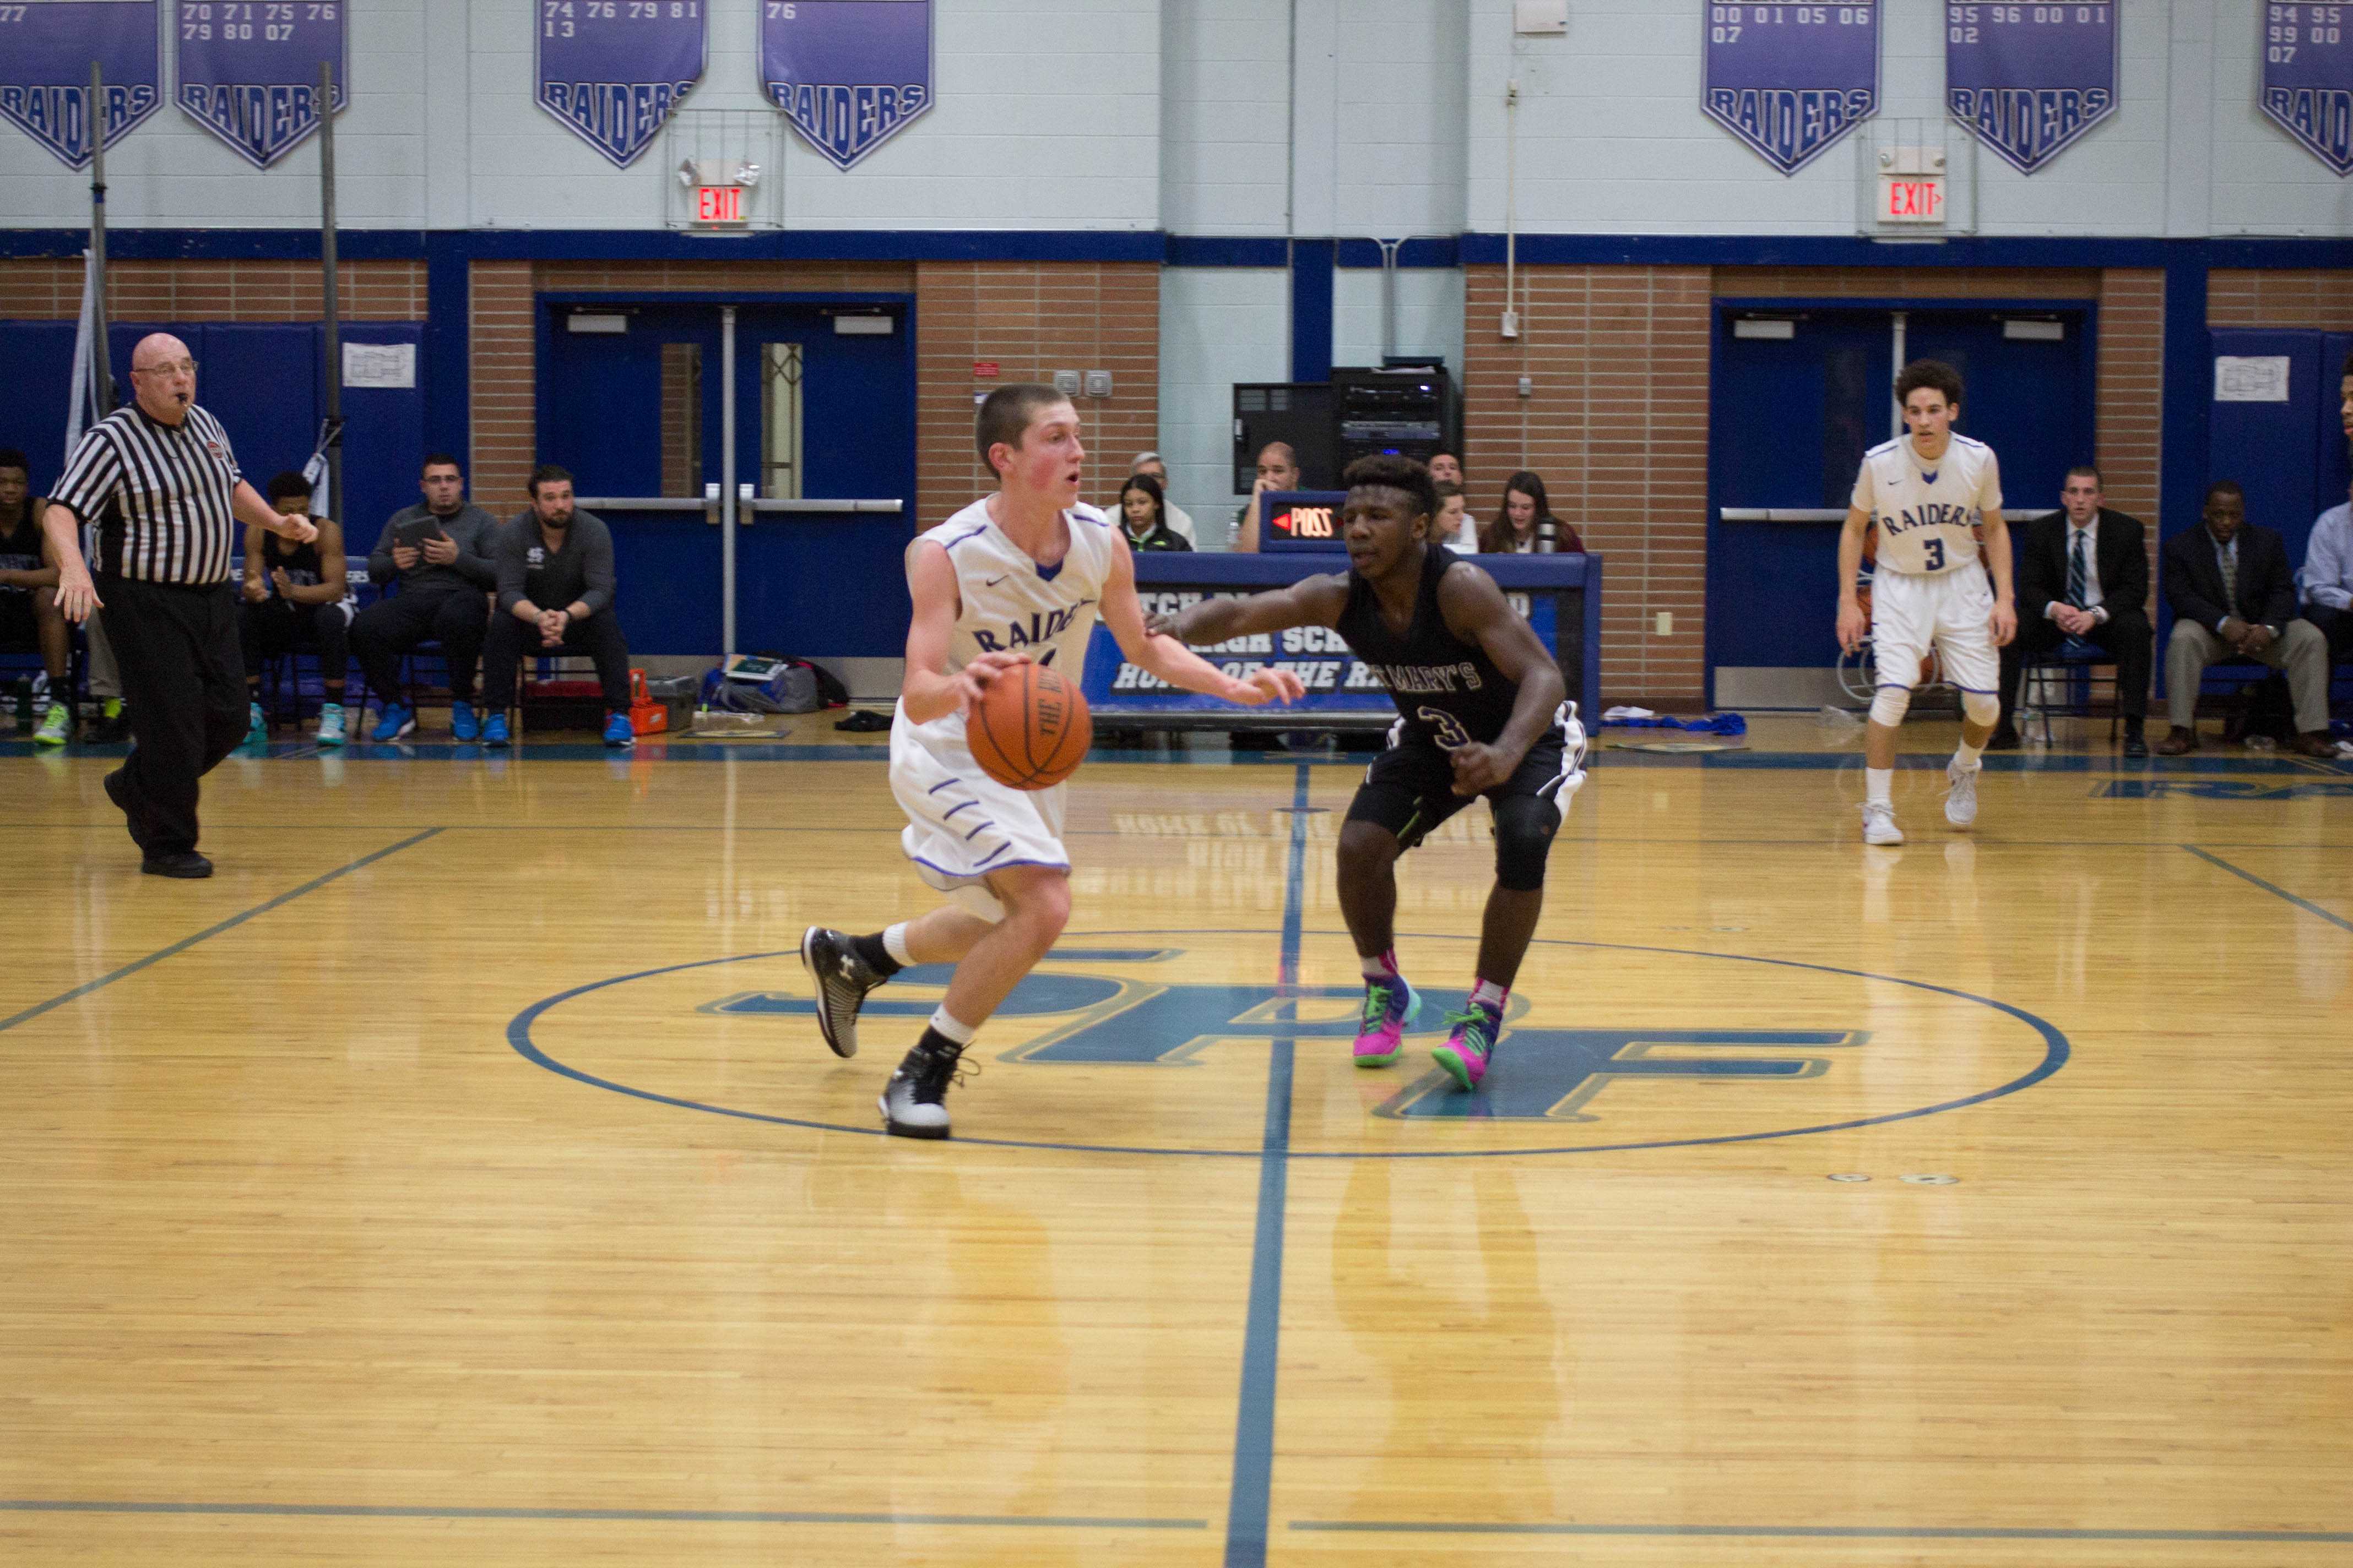
[[[106,635],[122,668],[132,755],[122,811],[148,856],[195,849],[195,780],[245,738],[238,588],[99,578]]]

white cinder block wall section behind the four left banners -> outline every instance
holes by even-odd
[[[518,0],[353,7],[353,101],[336,120],[346,226],[664,226],[664,146],[614,169],[541,110],[532,99],[532,24],[534,7]],[[1045,40],[1052,61],[1040,66]],[[786,221],[1160,226],[1160,0],[936,0],[934,80],[934,108],[847,174],[776,134]],[[758,89],[753,0],[708,5],[708,59],[687,108],[755,110],[774,122]],[[125,226],[318,223],[315,139],[256,172],[169,103],[115,146],[106,174],[108,214]],[[71,228],[87,219],[87,174],[0,127],[0,226]]]

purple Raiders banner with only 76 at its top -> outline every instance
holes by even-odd
[[[760,0],[760,80],[847,169],[932,108],[932,0]]]

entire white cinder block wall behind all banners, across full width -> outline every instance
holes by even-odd
[[[1572,0],[1567,38],[1515,38],[1513,0],[936,2],[927,115],[849,174],[776,136],[793,226],[1497,230],[1504,82],[1518,75],[1529,233],[1857,228],[1871,132],[1795,179],[1772,172],[1699,113],[1699,2]],[[1941,129],[1944,0],[1882,0],[1882,118]],[[659,153],[612,169],[532,103],[532,7],[367,0],[351,26],[353,103],[336,125],[346,223],[661,226]],[[711,7],[689,108],[767,113],[755,26],[751,0]],[[2353,181],[2254,106],[2261,26],[2261,0],[2127,0],[2122,108],[2033,179],[1979,155],[1979,230],[2348,233]],[[174,59],[165,28],[167,82]],[[247,169],[165,106],[111,155],[111,212],[308,226],[315,169],[315,146]],[[0,223],[85,216],[85,176],[0,134]]]

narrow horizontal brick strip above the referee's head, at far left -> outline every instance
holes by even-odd
[[[327,313],[315,261],[113,261],[111,322],[315,322]],[[421,261],[344,261],[336,306],[348,322],[426,320]],[[0,320],[71,322],[82,313],[82,263],[0,261]]]

